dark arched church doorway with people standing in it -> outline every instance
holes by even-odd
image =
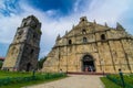
[[[92,56],[90,55],[83,56],[82,70],[83,72],[95,72],[94,59]]]

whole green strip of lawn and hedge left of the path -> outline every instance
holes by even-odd
[[[9,74],[9,77],[4,76],[0,78],[0,88],[20,88],[22,86],[33,85],[33,82],[38,84],[42,81],[49,81],[49,80],[66,77],[65,74],[58,74],[58,73],[54,73],[54,74],[35,73],[35,76],[32,76],[31,73],[0,72],[0,74],[3,74],[3,73]],[[18,74],[18,76],[16,74]],[[12,87],[12,86],[17,86],[17,87]]]

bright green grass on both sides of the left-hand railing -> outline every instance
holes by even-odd
[[[42,76],[42,75],[45,75],[45,74],[41,74],[41,73],[35,73],[35,76]],[[49,74],[52,76],[52,74]],[[0,70],[0,79],[3,79],[3,78],[14,78],[14,77],[29,77],[29,76],[32,76],[32,72],[30,73],[22,73],[22,72],[3,72],[3,70]],[[14,82],[14,84],[9,84],[9,85],[6,85],[6,86],[0,86],[0,88],[21,88],[21,87],[24,87],[24,86],[31,86],[31,85],[37,85],[37,84],[44,84],[44,82],[48,82],[48,81],[53,81],[53,80],[58,80],[58,79],[62,79],[62,78],[65,78],[66,76],[61,76],[61,77],[55,77],[55,78],[48,78],[48,79],[38,79],[38,80],[31,80],[31,81],[21,81],[21,82]]]

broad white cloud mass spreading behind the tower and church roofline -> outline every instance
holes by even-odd
[[[3,16],[0,14],[0,43],[10,44],[22,19],[31,14],[34,14],[42,23],[40,57],[43,57],[50,52],[55,43],[58,34],[61,34],[62,36],[66,30],[70,31],[72,29],[73,24],[78,24],[80,16],[86,15],[89,21],[93,21],[95,19],[98,23],[101,24],[108,22],[110,26],[115,26],[117,21],[123,23],[123,21],[126,20],[126,23],[123,23],[123,26],[127,26],[132,22],[129,22],[126,18],[127,13],[125,14],[125,12],[133,12],[132,7],[129,6],[131,0],[83,1],[84,2],[81,4],[81,0],[76,0],[72,7],[73,11],[68,15],[60,16],[59,10],[51,9],[42,11],[32,6],[29,6],[29,3],[25,3],[23,0],[21,0],[19,2],[21,4],[18,3],[21,10],[19,14],[12,13],[10,16]],[[130,18],[131,16],[132,15],[130,15]],[[131,25],[131,28],[133,28],[133,25]]]

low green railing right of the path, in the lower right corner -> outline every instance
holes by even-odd
[[[111,75],[106,75],[106,78],[110,79],[111,81],[115,82],[116,85],[123,86],[122,80],[117,77],[114,78]],[[122,88],[133,88],[133,85],[127,84],[126,81],[124,82],[124,87]]]

